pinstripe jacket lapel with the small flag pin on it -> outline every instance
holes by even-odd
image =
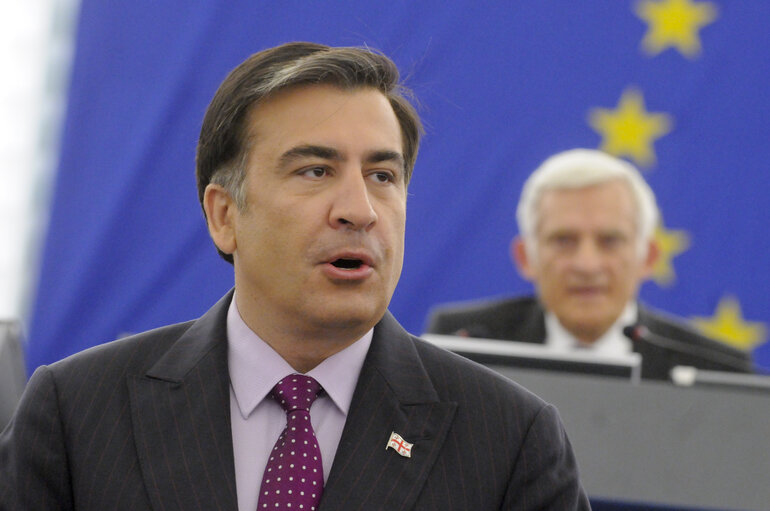
[[[409,334],[387,313],[375,327],[320,510],[411,508],[456,408],[439,399]],[[414,444],[411,458],[386,450],[391,432]]]

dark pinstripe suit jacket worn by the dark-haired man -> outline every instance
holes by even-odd
[[[235,511],[230,299],[38,369],[0,436],[0,510]],[[385,449],[392,431],[414,443],[411,458]],[[552,406],[388,314],[321,503],[349,509],[589,506]]]

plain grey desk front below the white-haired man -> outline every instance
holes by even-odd
[[[770,393],[493,367],[553,403],[589,495],[770,509]]]

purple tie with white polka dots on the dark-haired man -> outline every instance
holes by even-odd
[[[302,374],[291,374],[273,387],[270,395],[286,410],[286,429],[270,451],[258,511],[318,508],[324,476],[321,450],[310,423],[310,406],[321,390],[317,381]]]

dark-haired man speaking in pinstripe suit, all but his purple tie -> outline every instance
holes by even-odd
[[[197,154],[234,291],[39,368],[0,437],[0,509],[253,511],[286,425],[267,396],[292,373],[324,389],[321,510],[588,509],[552,406],[386,310],[420,132],[370,50],[292,43],[236,68]]]

